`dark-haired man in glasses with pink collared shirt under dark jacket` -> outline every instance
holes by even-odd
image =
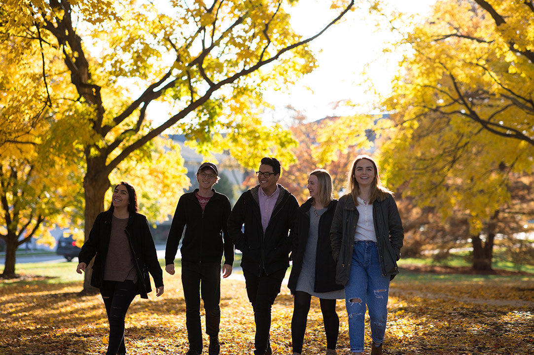
[[[228,233],[243,253],[241,267],[256,323],[254,354],[270,355],[271,306],[289,267],[288,232],[299,203],[277,184],[280,177],[277,159],[264,157],[256,175],[259,184],[244,192],[235,203],[228,219]]]

